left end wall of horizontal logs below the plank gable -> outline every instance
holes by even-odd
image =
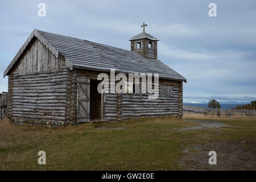
[[[68,106],[68,68],[47,73],[12,74],[9,88],[14,122],[63,125]]]

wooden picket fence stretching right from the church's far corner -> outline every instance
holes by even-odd
[[[185,106],[183,105],[183,113],[201,113],[201,114],[216,114],[216,115],[248,115],[256,117],[255,109],[208,109],[205,107]]]

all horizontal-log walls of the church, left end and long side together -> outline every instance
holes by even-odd
[[[44,125],[76,123],[77,77],[96,80],[99,73],[69,71],[65,66],[59,71],[12,73],[9,75],[10,118],[15,122]],[[163,86],[172,87],[171,96],[163,95]],[[181,117],[182,82],[159,80],[159,92],[157,100],[148,100],[147,94],[104,94],[105,121],[164,115]]]

